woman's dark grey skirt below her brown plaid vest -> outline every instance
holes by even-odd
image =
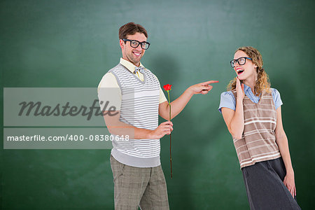
[[[253,209],[300,209],[295,198],[283,184],[286,167],[282,158],[256,162],[243,172],[249,206]]]

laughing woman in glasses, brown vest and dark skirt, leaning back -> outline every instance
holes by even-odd
[[[230,62],[237,77],[221,94],[219,111],[232,134],[251,209],[300,209],[281,120],[281,99],[270,88],[262,56],[238,48]]]

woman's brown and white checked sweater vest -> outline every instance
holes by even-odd
[[[237,99],[236,91],[232,92]],[[263,93],[257,104],[245,95],[243,108],[244,132],[241,139],[233,138],[241,168],[281,157],[274,133],[276,109],[272,94]]]

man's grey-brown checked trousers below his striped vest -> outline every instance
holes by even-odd
[[[115,209],[168,210],[167,186],[161,165],[139,168],[124,165],[111,155]]]

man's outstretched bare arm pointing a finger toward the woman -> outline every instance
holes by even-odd
[[[198,83],[196,85],[188,87],[183,94],[181,94],[180,97],[178,97],[176,100],[174,100],[171,103],[171,109],[172,109],[172,116],[171,118],[174,118],[177,116],[181,111],[184,109],[186,104],[190,101],[191,97],[193,97],[194,94],[207,94],[211,89],[212,85],[209,85],[211,83],[218,83],[217,80],[210,80],[205,83]],[[169,120],[169,103],[168,102],[162,102],[159,105],[159,115],[162,118],[165,118],[165,120]]]

